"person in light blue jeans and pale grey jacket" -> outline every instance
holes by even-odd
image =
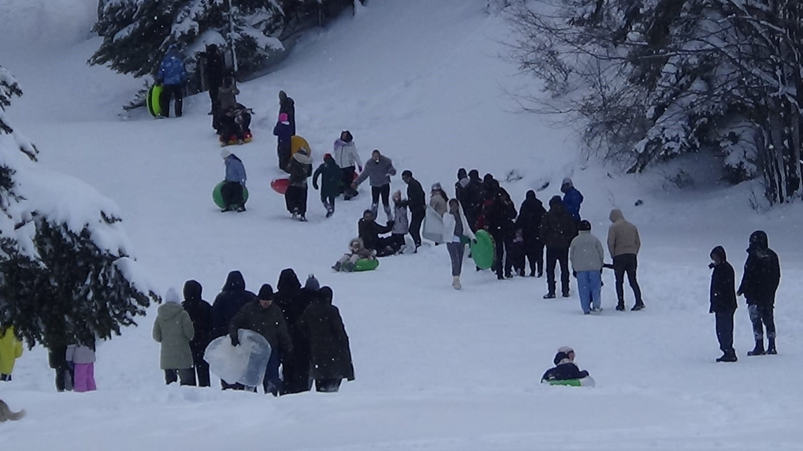
[[[592,311],[602,310],[602,264],[605,261],[605,250],[600,240],[591,234],[589,221],[580,221],[577,230],[577,238],[569,246],[569,260],[577,277],[580,306],[583,314],[589,315]]]

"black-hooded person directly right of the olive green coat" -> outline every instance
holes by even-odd
[[[199,387],[209,387],[209,364],[203,360],[206,347],[209,346],[212,334],[212,306],[201,297],[202,286],[194,280],[184,283],[184,302],[181,307],[190,314],[195,335],[190,341],[190,350],[193,352],[193,366],[197,373]]]

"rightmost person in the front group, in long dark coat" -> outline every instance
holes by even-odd
[[[310,345],[310,368],[317,392],[337,392],[342,380],[354,380],[349,335],[332,305],[332,288],[324,286],[298,323]]]

